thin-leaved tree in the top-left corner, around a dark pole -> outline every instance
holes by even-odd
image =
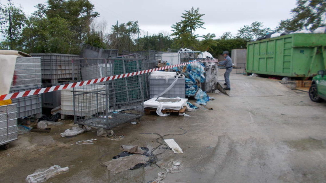
[[[21,7],[13,6],[10,1],[6,6],[0,4],[0,27],[5,40],[2,49],[21,49],[21,33],[25,26],[26,16]]]

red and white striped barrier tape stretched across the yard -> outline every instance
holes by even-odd
[[[51,91],[64,90],[64,89],[68,89],[68,88],[75,88],[75,87],[79,87],[79,86],[84,86],[84,85],[89,85],[89,84],[94,84],[94,83],[100,83],[100,82],[110,81],[110,80],[114,80],[114,79],[120,79],[120,78],[124,78],[124,77],[136,76],[136,75],[151,73],[151,72],[154,72],[154,71],[170,69],[170,68],[173,68],[173,67],[180,67],[180,66],[184,66],[184,65],[188,65],[188,64],[196,63],[196,62],[217,62],[217,60],[207,60],[207,61],[201,61],[200,60],[200,61],[179,63],[179,64],[176,64],[176,65],[159,67],[159,68],[155,68],[155,69],[148,69],[148,70],[137,71],[137,72],[127,73],[127,74],[119,74],[119,75],[110,76],[110,77],[102,77],[102,78],[91,79],[91,80],[87,80],[87,81],[80,81],[80,82],[75,82],[75,83],[69,83],[69,84],[63,84],[63,85],[58,85],[58,86],[47,87],[47,88],[40,88],[40,89],[36,89],[36,90],[21,91],[21,92],[16,92],[16,93],[8,93],[8,94],[0,95],[0,101],[13,99],[13,98],[26,97],[26,96],[30,96],[30,95],[37,95],[37,94],[51,92]]]

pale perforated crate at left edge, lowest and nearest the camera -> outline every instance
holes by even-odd
[[[0,146],[17,139],[17,104],[0,106]]]

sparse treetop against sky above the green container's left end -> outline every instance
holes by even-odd
[[[245,25],[238,30],[237,37],[244,38],[247,41],[258,39],[261,36],[272,32],[270,28],[262,28],[263,23],[259,21],[252,22],[251,25]]]

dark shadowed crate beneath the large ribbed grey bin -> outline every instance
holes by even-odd
[[[42,83],[42,87],[52,87],[60,85],[61,83],[51,84]],[[42,107],[55,108],[61,105],[60,91],[52,91],[47,93],[42,93]]]

